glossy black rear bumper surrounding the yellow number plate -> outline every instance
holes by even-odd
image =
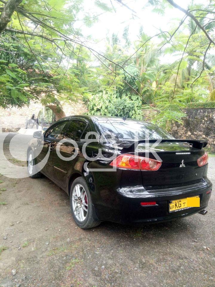
[[[94,204],[99,220],[108,220],[118,223],[153,223],[165,222],[180,217],[198,213],[208,206],[212,183],[204,178],[201,183],[181,187],[165,188],[159,190],[145,190],[143,186],[123,187],[112,191],[111,204],[109,200],[104,204]],[[192,207],[169,212],[169,201],[199,195],[200,207]],[[103,201],[103,200],[102,200]],[[155,206],[141,206],[140,202],[156,201]],[[101,201],[100,201],[101,202]]]

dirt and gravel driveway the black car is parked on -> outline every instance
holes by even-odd
[[[214,193],[206,216],[82,230],[49,179],[0,182],[0,286],[215,286]]]

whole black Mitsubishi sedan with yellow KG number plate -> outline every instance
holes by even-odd
[[[207,141],[174,139],[151,123],[105,116],[66,117],[33,137],[29,176],[42,173],[65,190],[81,228],[206,213]]]

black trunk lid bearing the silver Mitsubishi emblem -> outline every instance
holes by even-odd
[[[156,152],[162,160],[159,170],[141,171],[146,190],[177,187],[202,181],[205,166],[199,167],[197,159],[204,155],[204,150],[173,142],[160,143],[155,148],[152,148],[152,144],[139,144],[136,151],[139,156],[158,160],[155,157]]]

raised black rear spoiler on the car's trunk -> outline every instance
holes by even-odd
[[[120,140],[115,142],[113,145],[117,146],[119,148],[123,149],[129,149],[133,150],[135,146],[138,146],[138,144],[153,144],[156,143],[156,141],[159,141],[159,143],[188,143],[192,144],[192,147],[196,149],[202,149],[208,144],[208,141],[203,140],[184,140],[184,139],[152,139],[152,140]]]

